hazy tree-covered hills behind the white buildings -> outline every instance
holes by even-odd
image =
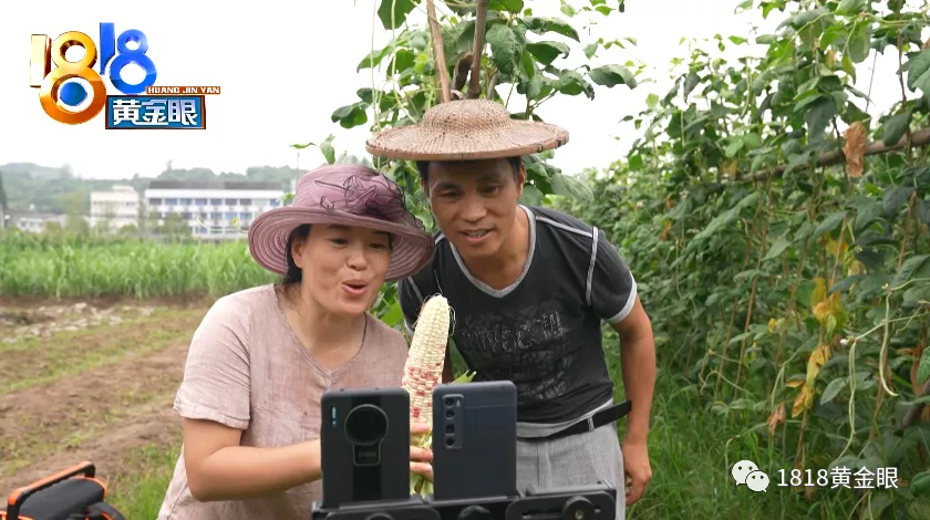
[[[76,177],[68,166],[49,167],[32,163],[9,163],[0,165],[0,206],[6,194],[11,211],[29,209],[54,214],[86,214],[89,194],[106,190],[114,184],[133,186],[142,191],[152,180],[273,180],[290,184],[297,171],[289,166],[254,166],[245,174],[234,171],[214,173],[209,168],[175,169],[170,167],[157,177],[134,175],[124,179],[93,179]]]

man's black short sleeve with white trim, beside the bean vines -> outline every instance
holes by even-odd
[[[595,228],[589,272],[589,302],[610,324],[623,321],[637,300],[637,281],[617,248]]]

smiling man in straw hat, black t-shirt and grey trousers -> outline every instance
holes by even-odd
[[[651,478],[652,325],[630,270],[602,231],[518,204],[526,180],[520,156],[567,141],[557,126],[514,121],[497,103],[463,100],[431,108],[420,126],[378,134],[366,147],[417,160],[441,231],[431,263],[399,284],[404,319],[413,329],[424,299],[442,293],[475,381],[514,382],[518,487],[608,480],[618,489],[617,518],[624,518],[624,506]],[[622,450],[614,422],[629,403],[613,405],[602,320],[621,337],[632,403]],[[444,379],[451,379],[448,357]]]

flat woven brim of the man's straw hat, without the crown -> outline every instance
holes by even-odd
[[[374,156],[390,159],[476,160],[536,154],[566,143],[568,132],[559,126],[510,119],[502,127],[447,132],[436,132],[420,125],[390,128],[370,137],[365,142],[365,149]]]

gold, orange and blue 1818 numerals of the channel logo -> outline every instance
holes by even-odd
[[[106,85],[101,76],[106,74],[107,65],[110,82],[123,94],[142,94],[155,83],[157,73],[155,63],[146,54],[148,39],[145,33],[130,29],[118,38],[115,34],[113,23],[100,24],[100,73],[94,70],[97,46],[91,37],[79,31],[68,31],[53,42],[48,34],[32,34],[29,86],[39,89],[39,101],[49,117],[69,125],[80,125],[96,117],[106,105]],[[136,44],[135,49],[130,49],[131,42]],[[73,45],[84,49],[84,55],[74,62],[65,58],[65,52]],[[145,71],[145,79],[135,85],[123,80],[123,69],[131,63]],[[75,77],[87,82],[93,91],[91,102],[80,111],[69,110],[87,98],[84,85],[76,81],[68,82]]]

